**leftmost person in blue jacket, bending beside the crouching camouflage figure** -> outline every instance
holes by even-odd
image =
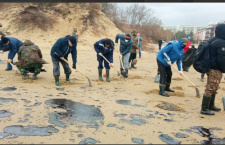
[[[9,53],[8,53],[8,61],[7,61],[7,68],[6,71],[12,70],[13,58],[18,53],[20,47],[23,45],[23,42],[14,37],[1,37],[2,43],[7,46]]]

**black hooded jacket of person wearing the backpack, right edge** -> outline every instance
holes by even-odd
[[[225,24],[217,25],[215,37],[209,40],[213,41],[215,43],[210,47],[211,69],[225,73]]]

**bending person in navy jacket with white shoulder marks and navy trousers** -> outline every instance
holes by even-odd
[[[110,67],[113,67],[114,42],[108,38],[101,39],[94,44],[94,48],[95,48],[95,51],[97,52],[97,60],[99,63],[98,65],[99,80],[103,81],[102,63],[104,61],[104,66],[106,68],[106,81],[110,82],[109,70],[110,70]],[[110,62],[110,64],[102,56],[104,56]]]

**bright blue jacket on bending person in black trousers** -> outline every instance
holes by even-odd
[[[183,40],[180,39],[178,42],[170,42],[165,47],[163,47],[157,55],[157,60],[162,62],[164,66],[169,67],[168,63],[165,61],[171,61],[173,64],[177,62],[178,70],[182,70],[182,55],[184,53]]]

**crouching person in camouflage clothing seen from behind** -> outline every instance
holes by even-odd
[[[37,79],[37,75],[41,72],[43,64],[47,62],[42,59],[41,50],[30,40],[25,40],[18,52],[17,67],[23,79],[29,79],[28,72],[33,73],[33,80]]]

